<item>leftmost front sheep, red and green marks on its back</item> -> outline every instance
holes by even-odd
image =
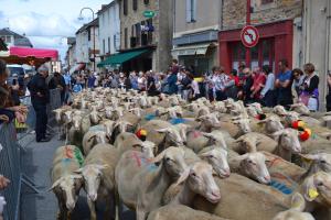
[[[58,202],[57,219],[70,219],[75,208],[79,190],[83,184],[82,175],[74,172],[83,163],[81,151],[73,145],[61,146],[56,150],[51,168],[51,190]]]

